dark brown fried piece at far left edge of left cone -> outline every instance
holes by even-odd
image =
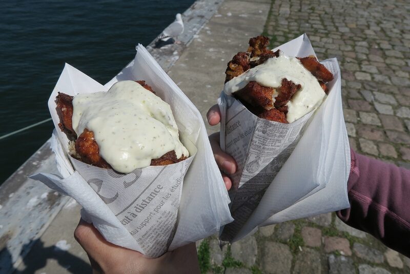
[[[68,139],[75,140],[77,134],[74,132],[73,123],[71,121],[73,116],[73,96],[58,92],[55,103],[57,104],[56,110],[60,118],[58,127],[67,134]]]

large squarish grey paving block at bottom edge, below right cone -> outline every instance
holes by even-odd
[[[260,267],[263,273],[286,274],[291,272],[292,253],[289,246],[272,241],[263,243]]]

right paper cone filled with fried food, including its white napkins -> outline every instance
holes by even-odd
[[[280,51],[277,51],[278,49]],[[264,51],[259,58],[252,58],[252,53],[238,53],[229,64],[231,66],[227,72],[231,74],[227,73],[227,80],[233,79],[231,81],[236,81],[236,86],[241,85],[235,77],[249,69],[241,59],[249,58],[249,55],[251,64],[261,60],[265,62],[268,58],[273,58],[272,62],[282,62],[279,52],[286,56],[310,56],[309,58],[317,63],[315,52],[305,34],[272,51]],[[293,58],[293,61],[298,62],[296,59]],[[289,58],[286,59],[286,62],[288,61]],[[305,111],[307,113],[289,123],[286,121],[289,115],[284,114],[288,105],[276,105],[281,103],[278,99],[283,92],[279,92],[276,101],[272,101],[272,95],[270,100],[263,101],[268,97],[263,92],[267,91],[269,86],[259,83],[255,88],[248,84],[242,89],[248,93],[245,93],[245,96],[237,96],[244,99],[242,103],[235,99],[235,93],[221,93],[218,99],[222,116],[220,144],[238,164],[237,172],[232,175],[233,187],[229,191],[234,221],[224,226],[220,234],[221,240],[234,242],[259,226],[348,207],[346,182],[350,168],[350,150],[341,105],[340,69],[335,58],[321,64],[334,76],[329,79],[327,86],[324,86],[329,95],[319,90],[324,96],[321,105],[312,111]],[[299,63],[296,69],[300,67]],[[263,69],[260,69],[260,73],[265,72]],[[276,69],[281,71],[279,73],[285,71],[281,67]],[[242,79],[256,79],[253,81],[258,84],[258,81],[263,79],[254,71],[249,70],[246,75],[248,78],[242,76]],[[286,76],[285,73],[283,76],[279,75],[279,80]],[[306,90],[308,83],[298,81],[296,77],[289,77],[289,80],[295,82],[291,83],[293,87],[299,86],[297,88]],[[272,78],[268,79],[268,84],[269,81],[272,82]],[[234,86],[230,82],[227,84]],[[245,84],[247,83],[243,85]],[[282,88],[284,84],[286,83],[282,80]],[[321,86],[322,83],[319,89]],[[249,95],[249,90],[259,94]],[[276,111],[275,116],[271,119],[274,121],[268,120],[270,117],[266,113],[269,111],[253,107],[255,101],[265,106],[271,104],[271,107],[275,104],[276,108],[272,109]],[[284,103],[286,102],[288,101]],[[285,112],[279,112],[283,107],[286,107]],[[268,114],[271,115],[270,113]]]

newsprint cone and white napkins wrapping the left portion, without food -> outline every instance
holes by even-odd
[[[107,91],[120,80],[145,80],[171,105],[181,142],[190,152],[188,159],[124,174],[85,164],[68,154],[67,136],[58,128],[57,92]],[[83,206],[81,217],[109,242],[155,258],[208,237],[232,221],[228,193],[198,110],[144,47],[138,45],[134,61],[105,86],[66,65],[49,108],[56,127],[51,149],[61,175],[39,173],[31,178],[73,197]]]

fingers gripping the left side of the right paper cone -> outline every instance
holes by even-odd
[[[221,121],[221,113],[218,105],[213,105],[208,110],[207,118],[208,123],[211,126],[219,124],[219,122]],[[219,144],[219,133],[220,132],[211,134],[209,136],[209,142],[211,143],[211,148],[214,153],[216,164],[221,170],[223,182],[225,183],[227,190],[229,190],[232,187],[232,181],[228,177],[228,175],[236,172],[236,162],[231,155],[221,150],[221,146]]]

